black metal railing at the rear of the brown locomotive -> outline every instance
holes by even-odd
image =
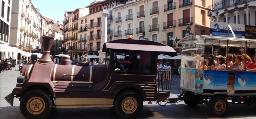
[[[172,91],[172,70],[157,70],[158,92]]]

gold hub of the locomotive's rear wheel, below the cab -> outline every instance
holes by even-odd
[[[128,97],[122,102],[122,109],[127,114],[131,114],[136,111],[137,107],[137,101],[132,97]]]

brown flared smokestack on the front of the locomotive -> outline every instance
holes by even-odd
[[[49,63],[52,62],[51,56],[50,56],[50,50],[51,46],[53,43],[53,39],[55,37],[50,37],[50,36],[42,36],[42,41],[43,41],[43,55],[39,59],[38,62],[40,63]]]

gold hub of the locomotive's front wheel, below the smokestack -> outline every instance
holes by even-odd
[[[38,115],[44,111],[45,102],[40,97],[32,97],[27,102],[28,112],[33,115]]]

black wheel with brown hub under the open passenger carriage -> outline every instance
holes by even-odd
[[[224,96],[212,97],[208,102],[208,109],[212,116],[223,117],[228,110],[228,101]]]

